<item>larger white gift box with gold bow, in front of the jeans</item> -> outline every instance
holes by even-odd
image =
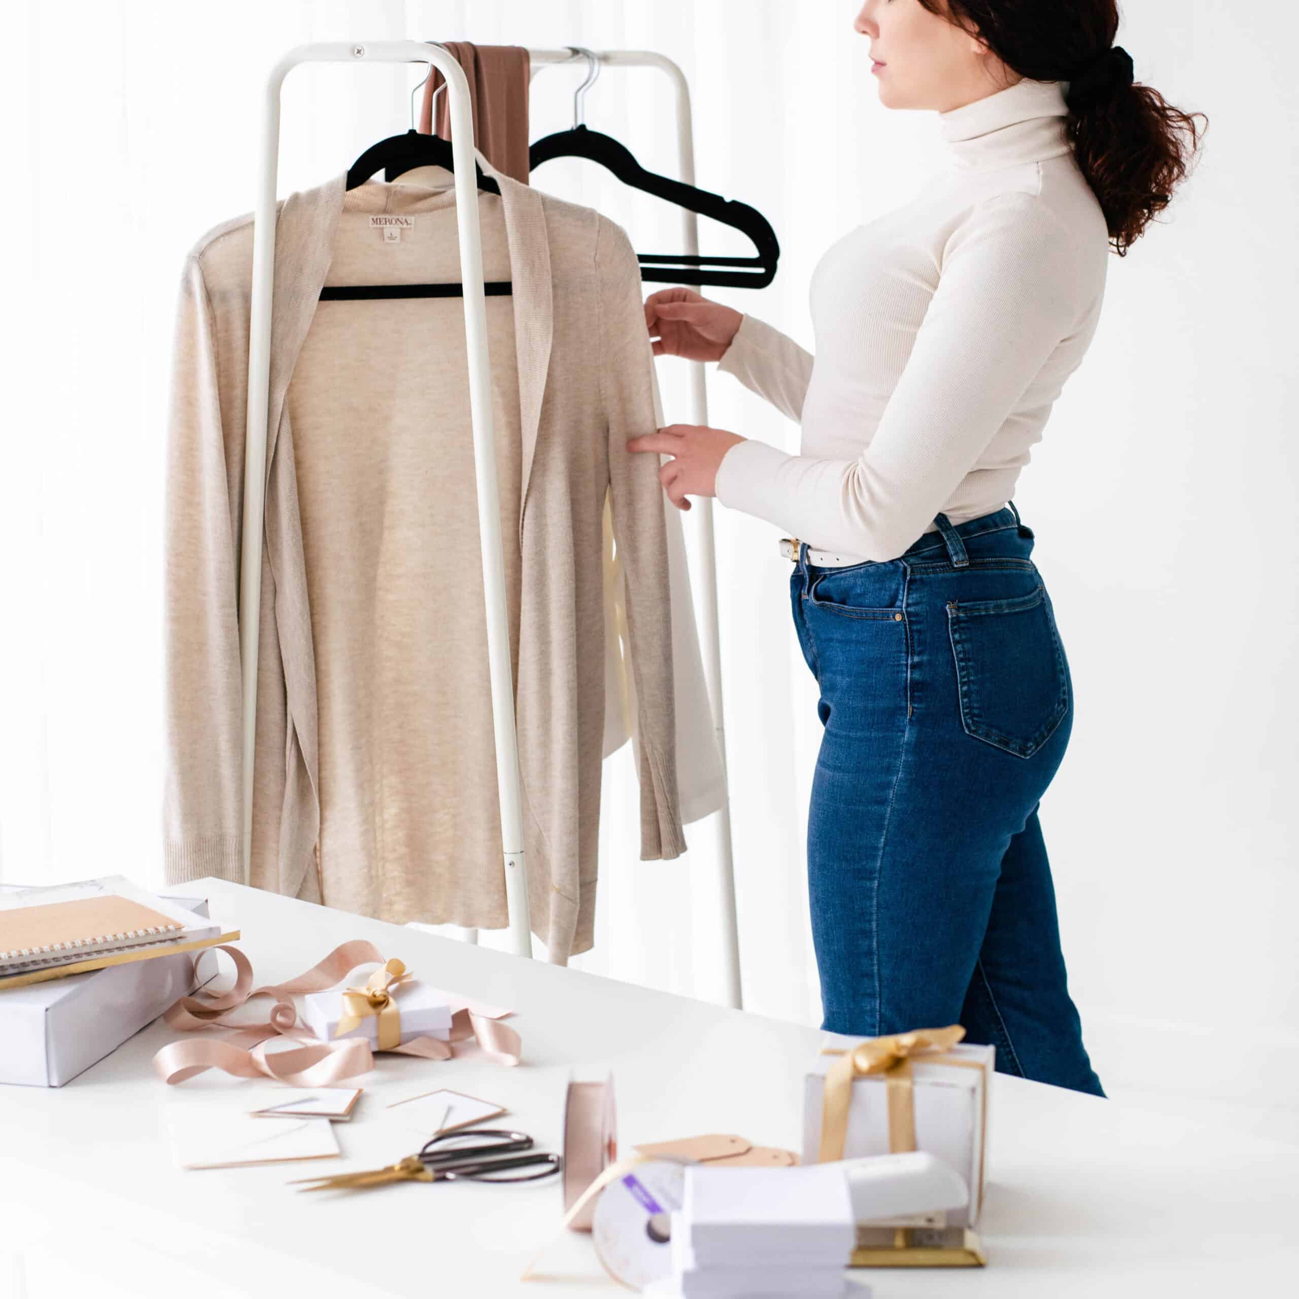
[[[950,1228],[973,1228],[983,1207],[987,1098],[995,1050],[961,1043],[960,1025],[887,1038],[827,1034],[808,1070],[803,1163],[922,1150],[966,1179],[969,1208]]]

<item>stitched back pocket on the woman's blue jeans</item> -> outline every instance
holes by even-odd
[[[1069,673],[1046,587],[1011,600],[952,600],[947,631],[965,733],[1031,757],[1069,711]]]

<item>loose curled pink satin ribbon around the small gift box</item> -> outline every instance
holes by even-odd
[[[385,957],[370,942],[353,939],[335,947],[325,960],[286,983],[268,983],[253,989],[252,965],[238,947],[217,947],[235,963],[235,986],[229,992],[204,992],[182,996],[162,1016],[181,1033],[204,1029],[233,1029],[221,1040],[173,1042],[153,1057],[153,1068],[166,1083],[184,1082],[205,1069],[221,1069],[239,1078],[268,1077],[299,1087],[327,1087],[344,1078],[369,1073],[374,1068],[370,1044],[364,1038],[321,1042],[297,1022],[292,998],[322,992],[334,987],[357,965],[370,961],[383,964]],[[518,1034],[498,1022],[509,1011],[482,1005],[466,998],[447,995],[455,1013],[451,1020],[451,1042],[438,1038],[412,1038],[392,1050],[400,1055],[426,1060],[449,1060],[452,1043],[473,1039],[498,1064],[518,1064],[522,1043]],[[240,1024],[231,1017],[247,1002],[270,996],[275,1004],[265,1024]],[[288,1038],[303,1046],[269,1051],[271,1040]]]

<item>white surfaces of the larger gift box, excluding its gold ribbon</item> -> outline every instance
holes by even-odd
[[[863,1039],[826,1034],[824,1047],[851,1051]],[[983,1207],[985,1151],[987,1148],[987,1098],[996,1051],[990,1046],[955,1047],[935,1055],[952,1056],[960,1064],[911,1057],[912,1099],[916,1111],[916,1147],[951,1165],[965,1179],[968,1208],[946,1215],[947,1226],[973,1228]],[[825,1076],[838,1055],[820,1055],[804,1079],[803,1163],[817,1163],[821,1148],[821,1111]],[[889,1155],[889,1100],[883,1074],[857,1077],[852,1083],[848,1130],[842,1159]]]

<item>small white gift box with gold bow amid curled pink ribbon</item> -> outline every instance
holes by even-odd
[[[336,987],[303,998],[303,1020],[323,1042],[365,1038],[391,1051],[412,1038],[451,1038],[446,994],[412,978],[399,960],[352,969]]]

